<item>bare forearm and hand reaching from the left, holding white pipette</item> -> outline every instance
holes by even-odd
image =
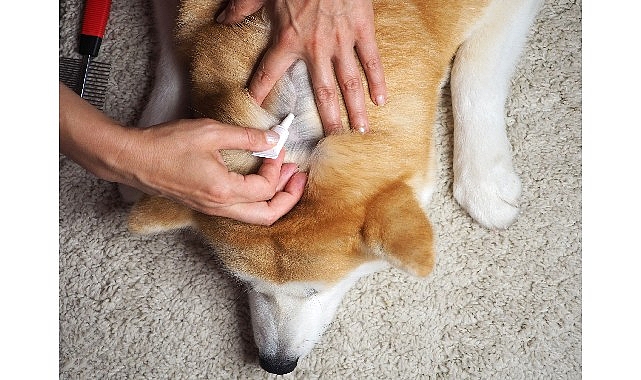
[[[119,125],[60,85],[60,152],[96,176],[195,210],[271,224],[300,199],[306,175],[283,164],[284,151],[258,173],[230,172],[220,149],[263,151],[275,132],[211,119],[172,120],[152,128]]]

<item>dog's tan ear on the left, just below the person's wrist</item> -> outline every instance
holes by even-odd
[[[194,211],[163,197],[144,196],[129,213],[129,230],[152,234],[191,227]]]

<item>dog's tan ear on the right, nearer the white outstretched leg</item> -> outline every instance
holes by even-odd
[[[416,276],[432,271],[432,225],[405,183],[388,187],[372,200],[362,231],[365,244],[393,266]]]

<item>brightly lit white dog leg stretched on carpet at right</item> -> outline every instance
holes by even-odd
[[[481,225],[506,228],[519,213],[504,108],[510,78],[541,0],[494,1],[460,46],[451,74],[454,196]]]

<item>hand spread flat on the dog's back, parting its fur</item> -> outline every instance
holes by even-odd
[[[217,21],[238,23],[266,1],[230,0]],[[342,128],[334,71],[350,124],[366,132],[369,124],[354,48],[367,77],[372,101],[383,105],[387,97],[371,0],[271,0],[269,4],[275,35],[249,84],[254,100],[262,104],[289,66],[302,59],[311,75],[325,132]]]

